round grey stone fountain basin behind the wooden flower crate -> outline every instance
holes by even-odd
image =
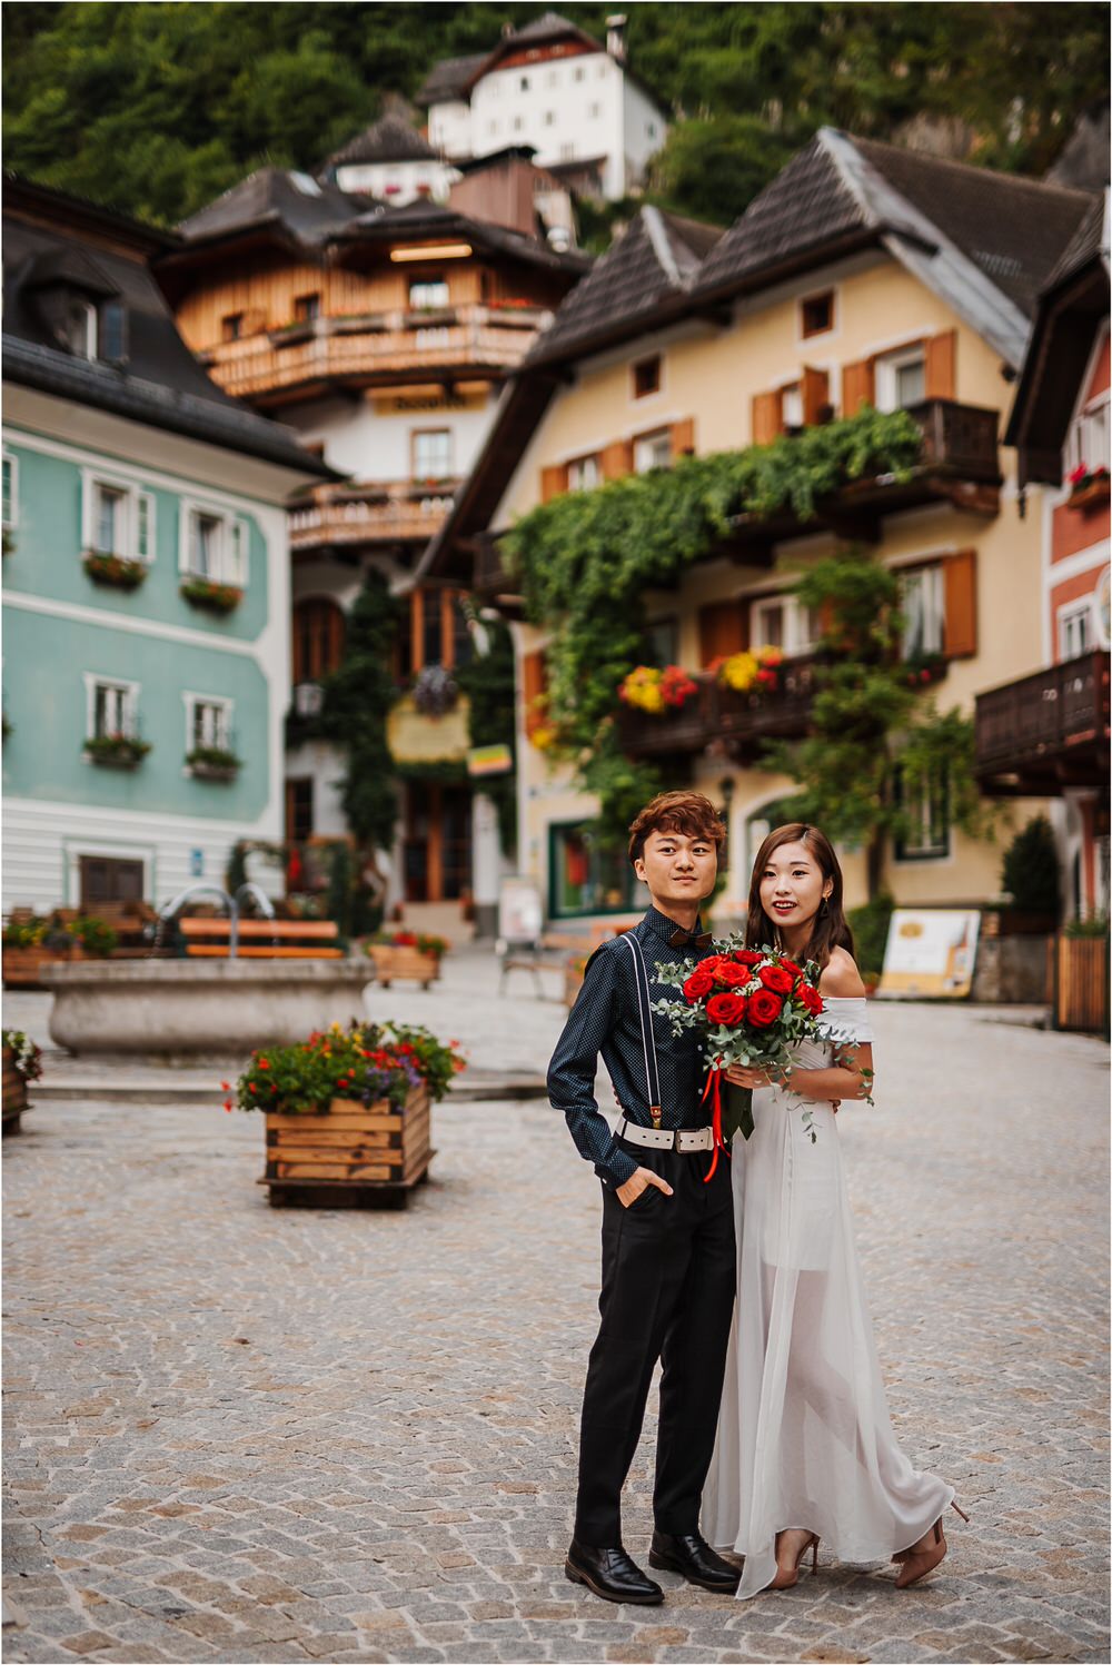
[[[50,1037],[68,1052],[245,1056],[363,1017],[368,959],[130,959],[43,966]]]

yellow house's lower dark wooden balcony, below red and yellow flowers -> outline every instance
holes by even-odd
[[[618,713],[621,748],[631,758],[691,756],[712,748],[721,758],[752,759],[766,739],[797,739],[807,733],[814,694],[814,654],[784,659],[779,688],[741,694],[701,671],[699,693],[679,711],[653,714],[623,706]]]

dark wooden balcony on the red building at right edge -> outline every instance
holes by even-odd
[[[1084,653],[977,694],[975,773],[992,798],[1109,783],[1109,654]]]

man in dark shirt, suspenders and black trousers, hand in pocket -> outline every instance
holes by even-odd
[[[697,1037],[674,1036],[648,1009],[656,964],[697,959],[709,947],[699,902],[714,889],[724,841],[699,793],[663,793],[641,811],[629,859],[653,906],[588,961],[548,1072],[553,1106],[603,1180],[603,1322],[583,1395],[564,1572],[606,1602],[664,1600],[621,1542],[621,1489],[658,1359],[664,1375],[649,1563],[706,1590],[732,1593],[739,1578],[699,1535],[736,1284],[729,1164],[719,1162],[707,1182],[714,1152]],[[623,1111],[616,1134],[594,1101],[599,1051]]]

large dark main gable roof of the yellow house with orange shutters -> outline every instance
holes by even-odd
[[[749,203],[696,288],[759,288],[874,243],[1019,365],[1039,288],[1089,201],[826,127]]]

